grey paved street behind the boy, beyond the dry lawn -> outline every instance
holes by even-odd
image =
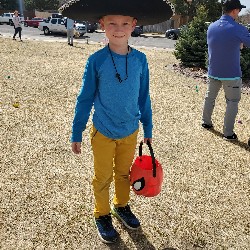
[[[3,37],[12,37],[14,33],[13,26],[10,25],[0,25],[0,34]],[[38,28],[33,27],[23,27],[22,39],[32,39],[32,40],[44,40],[44,41],[59,41],[66,42],[65,35],[48,35],[45,36],[42,31]],[[97,31],[94,33],[86,33],[83,37],[75,39],[79,43],[104,43],[105,34],[104,32]],[[154,47],[154,48],[165,48],[174,49],[176,41],[165,38],[162,34],[142,34],[141,37],[131,37],[129,44],[131,46],[138,47]]]

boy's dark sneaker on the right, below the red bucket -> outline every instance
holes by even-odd
[[[125,207],[113,207],[111,213],[122,221],[122,223],[129,229],[137,229],[140,227],[139,220],[131,212],[129,205]]]

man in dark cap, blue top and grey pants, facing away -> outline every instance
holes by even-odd
[[[241,98],[242,72],[240,67],[240,48],[242,43],[250,47],[250,35],[246,27],[237,23],[242,8],[239,0],[224,0],[223,15],[210,24],[207,31],[208,44],[208,84],[204,101],[202,127],[213,128],[212,113],[215,99],[221,87],[226,98],[223,138],[237,140],[234,124]]]

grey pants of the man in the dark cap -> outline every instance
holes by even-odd
[[[224,117],[224,136],[233,135],[235,118],[238,113],[238,104],[241,98],[242,79],[238,80],[216,80],[209,78],[207,92],[204,101],[202,122],[212,125],[211,116],[215,106],[215,99],[223,86],[226,98],[226,112]]]

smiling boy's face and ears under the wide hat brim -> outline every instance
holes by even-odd
[[[136,25],[136,19],[130,16],[109,15],[100,20],[102,30],[110,42],[127,42]]]

